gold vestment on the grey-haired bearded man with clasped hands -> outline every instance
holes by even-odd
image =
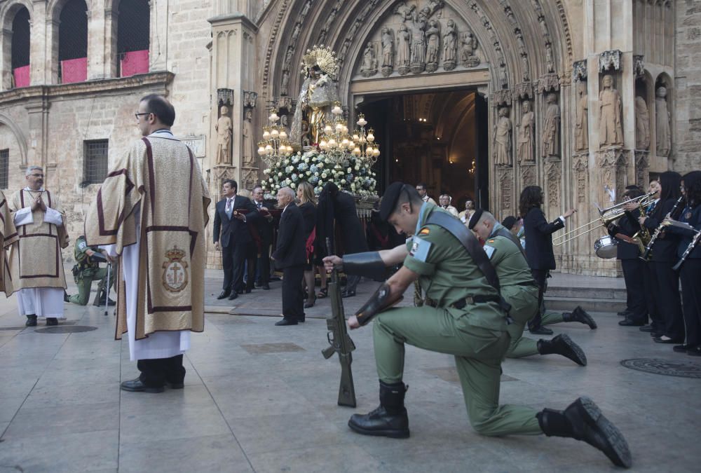
[[[39,194],[43,203],[59,212],[65,223],[66,214],[61,210],[57,196],[46,189],[29,191],[27,188],[13,193],[8,201],[11,212],[10,222],[13,222],[15,212],[25,207],[32,207],[34,199]],[[61,248],[68,246],[68,232],[65,224],[61,226],[50,224],[44,221],[44,217],[46,213],[43,210],[33,210],[32,223],[20,225],[17,228],[17,237],[4,243],[5,246],[10,246],[8,266],[11,285],[9,290],[6,287],[8,296],[20,289],[36,287],[66,289]],[[7,220],[5,225],[7,228]]]

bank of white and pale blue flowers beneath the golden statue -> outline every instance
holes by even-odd
[[[377,195],[376,174],[372,170],[372,164],[362,156],[351,156],[343,163],[334,164],[325,153],[311,149],[304,154],[298,152],[278,160],[263,173],[265,177],[261,186],[266,198],[273,198],[280,188],[285,186],[296,189],[302,181],[314,186],[316,195],[319,195],[327,182],[333,182],[339,188],[358,197]]]

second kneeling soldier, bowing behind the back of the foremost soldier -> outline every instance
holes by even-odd
[[[552,340],[541,338],[538,341],[523,336],[524,327],[538,311],[538,285],[533,280],[531,268],[526,261],[521,242],[494,215],[478,209],[470,217],[468,228],[484,240],[484,251],[494,265],[501,285],[501,295],[511,306],[509,316],[512,324],[506,330],[511,336],[508,358],[522,358],[531,355],[562,355],[576,364],[587,366],[587,356],[579,345],[566,334]],[[588,315],[587,315],[588,317]],[[583,320],[572,322],[587,323]]]

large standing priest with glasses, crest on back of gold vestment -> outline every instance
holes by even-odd
[[[192,152],[170,132],[170,102],[147,95],[135,115],[143,138],[110,167],[85,235],[118,260],[116,338],[128,334],[141,371],[121,388],[163,392],[183,387],[190,332],[204,329],[210,198]]]

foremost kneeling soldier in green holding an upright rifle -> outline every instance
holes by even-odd
[[[510,342],[508,304],[501,299],[494,266],[474,235],[400,182],[388,187],[380,212],[397,231],[414,235],[407,247],[324,259],[327,268],[342,265],[346,273],[368,277],[377,277],[383,266],[404,261],[348,319],[348,326],[355,329],[376,316],[373,339],[380,381],[380,406],[365,415],[354,414],[349,427],[360,434],[409,437],[402,382],[404,343],[409,343],[455,356],[468,417],[480,434],[571,437],[603,451],[615,465],[629,467],[624,437],[587,397],[564,411],[498,404],[501,360]],[[388,308],[417,279],[430,304]]]

